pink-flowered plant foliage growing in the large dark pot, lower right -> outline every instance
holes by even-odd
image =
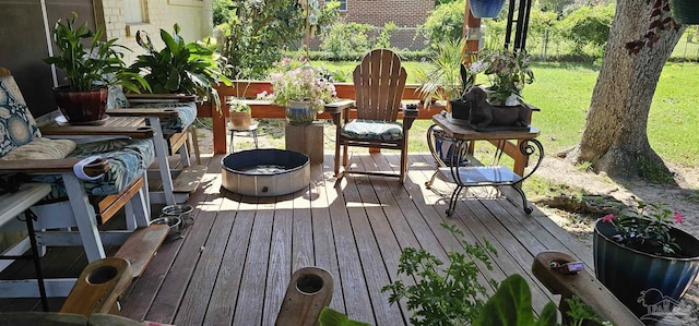
[[[624,209],[618,215],[608,214],[602,221],[614,225],[618,233],[612,238],[619,244],[649,254],[678,256],[680,247],[670,230],[682,219],[683,215],[666,204],[639,201],[637,207]]]

